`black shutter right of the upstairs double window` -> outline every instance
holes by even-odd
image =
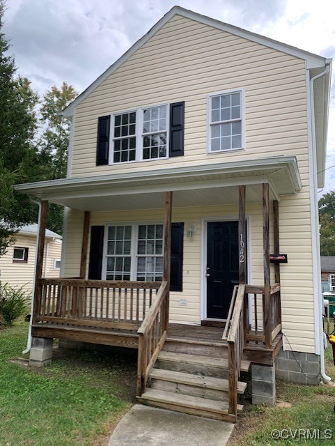
[[[170,157],[184,155],[185,102],[170,105]]]

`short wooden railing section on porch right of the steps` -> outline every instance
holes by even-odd
[[[280,285],[274,284],[270,291],[270,308],[266,307],[264,286],[246,285],[245,293],[252,295],[251,308],[253,314],[252,324],[247,320],[246,341],[256,344],[271,345],[281,332],[281,293]],[[249,301],[246,299],[249,315]],[[269,336],[269,339],[267,339]]]

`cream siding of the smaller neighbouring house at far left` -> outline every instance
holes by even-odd
[[[47,247],[48,245],[48,247]],[[27,263],[13,263],[14,247],[27,247]],[[54,259],[61,259],[61,243],[50,238],[45,238],[45,252],[42,275],[44,277],[59,277],[59,270],[54,270]],[[23,287],[29,298],[33,291],[33,274],[36,259],[36,236],[24,236],[17,234],[16,242],[8,247],[7,253],[0,257],[0,280],[3,284]],[[46,262],[46,263],[45,263]]]

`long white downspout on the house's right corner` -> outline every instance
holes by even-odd
[[[320,344],[320,373],[322,378],[325,381],[330,381],[332,380],[332,378],[330,378],[329,376],[326,375],[325,372],[325,352],[324,352],[324,336],[323,336],[323,320],[322,320],[322,313],[323,313],[323,309],[321,309],[321,289],[320,289],[320,277],[321,277],[321,268],[320,268],[320,241],[319,241],[319,237],[316,233],[316,231],[318,230],[319,227],[319,216],[318,216],[318,187],[317,187],[317,168],[316,168],[316,137],[315,137],[315,116],[314,116],[314,82],[316,79],[318,79],[319,77],[325,76],[327,75],[327,73],[329,72],[329,64],[326,63],[326,68],[325,70],[323,70],[322,72],[320,72],[318,75],[315,75],[314,77],[312,77],[310,79],[310,92],[311,92],[311,132],[312,132],[312,153],[311,153],[311,169],[313,170],[311,172],[311,176],[310,178],[313,178],[313,184],[312,184],[312,188],[313,188],[313,194],[311,196],[311,199],[313,199],[313,206],[311,206],[311,209],[313,209],[311,218],[312,218],[312,231],[314,229],[315,231],[315,237],[314,240],[316,240],[316,247],[314,249],[316,249],[316,254],[313,256],[314,257],[314,261],[315,259],[318,259],[317,261],[317,275],[318,275],[318,280],[316,283],[317,286],[317,294],[318,294],[318,317],[319,317],[319,327],[320,327],[320,332],[319,332],[319,344]],[[312,236],[312,240],[313,240],[313,236]]]

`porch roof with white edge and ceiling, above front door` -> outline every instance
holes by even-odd
[[[238,185],[249,185],[247,202],[257,203],[262,200],[262,183],[269,183],[270,199],[297,193],[302,182],[296,157],[63,178],[14,187],[30,197],[94,212],[162,208],[166,191],[175,192],[176,207],[237,203]]]

